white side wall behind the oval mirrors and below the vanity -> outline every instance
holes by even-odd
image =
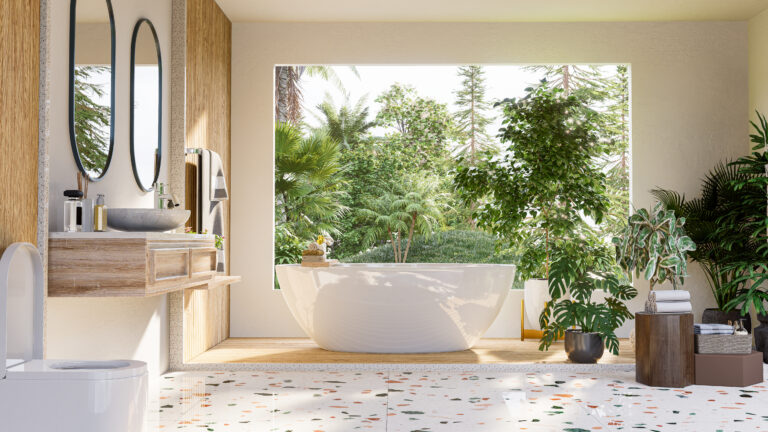
[[[74,158],[67,124],[69,75],[69,1],[50,4],[50,223],[61,230],[61,197],[76,186]],[[130,47],[133,27],[149,18],[157,30],[163,66],[170,65],[171,0],[113,0],[115,16],[115,146],[112,164],[103,180],[89,186],[89,196],[106,195],[108,207],[151,207],[152,194],[142,192],[131,171],[129,144]],[[166,69],[167,70],[167,69]],[[163,74],[163,154],[168,155],[169,74]],[[160,181],[167,179],[167,157]],[[47,301],[47,356],[49,358],[127,358],[148,363],[151,375],[168,367],[167,296],[145,299],[49,298]]]

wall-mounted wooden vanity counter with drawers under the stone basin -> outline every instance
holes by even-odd
[[[240,280],[216,273],[212,235],[50,233],[49,297],[147,297]]]

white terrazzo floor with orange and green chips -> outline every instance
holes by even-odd
[[[768,382],[652,388],[633,370],[174,372],[151,399],[148,432],[768,431]]]

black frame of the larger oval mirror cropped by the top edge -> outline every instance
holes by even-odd
[[[69,141],[72,145],[72,154],[75,157],[77,169],[92,182],[97,182],[104,178],[109,171],[109,165],[112,162],[112,154],[115,149],[115,15],[112,11],[112,0],[104,0],[107,3],[107,12],[109,13],[109,32],[110,32],[110,61],[112,67],[111,91],[109,95],[109,153],[107,162],[104,164],[104,170],[98,177],[92,177],[83,167],[80,160],[80,151],[77,148],[77,138],[75,135],[75,28],[77,26],[77,0],[70,0],[69,3]]]

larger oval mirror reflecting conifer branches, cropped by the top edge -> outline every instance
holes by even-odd
[[[115,21],[110,0],[71,0],[69,139],[91,181],[109,169],[115,123]]]

